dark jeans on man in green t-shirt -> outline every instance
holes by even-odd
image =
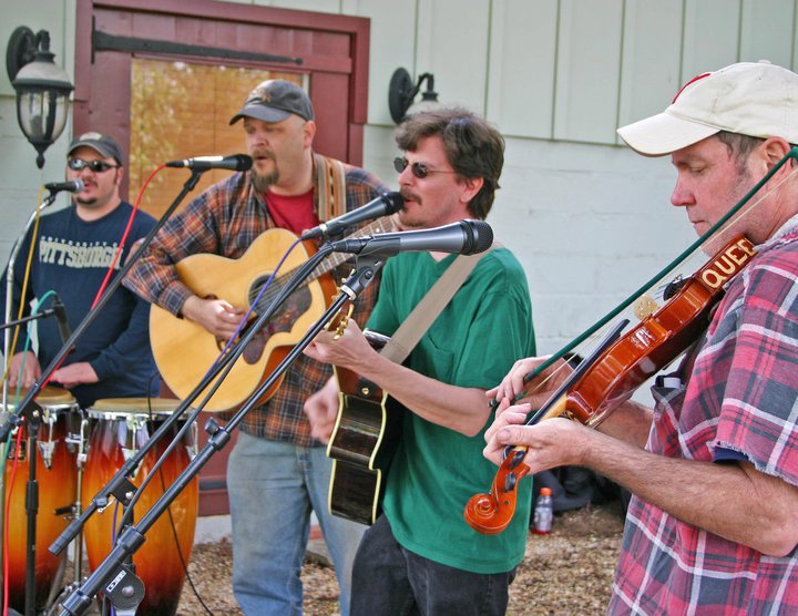
[[[515,569],[480,574],[405,550],[385,515],[364,535],[352,571],[352,616],[503,616]]]

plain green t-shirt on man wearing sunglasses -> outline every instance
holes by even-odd
[[[454,257],[436,263],[428,253],[405,253],[389,259],[369,329],[392,335]],[[515,257],[498,248],[482,257],[407,365],[449,384],[489,389],[516,359],[534,351],[526,277]],[[520,482],[518,509],[503,533],[483,535],[463,519],[468,500],[489,492],[498,471],[482,455],[492,419],[469,438],[403,413],[383,511],[405,548],[481,574],[510,571],[523,559],[532,500],[529,479]]]

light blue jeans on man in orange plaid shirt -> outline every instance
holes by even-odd
[[[316,512],[349,613],[351,567],[366,526],[329,513],[332,463],[325,448],[304,448],[238,433],[227,463],[233,523],[233,591],[245,614],[303,610],[299,577]]]

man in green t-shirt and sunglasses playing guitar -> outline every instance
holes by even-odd
[[[396,135],[405,209],[402,229],[483,219],[493,204],[504,141],[459,109],[411,116]],[[388,260],[368,327],[396,331],[454,260],[446,253],[403,253]],[[534,349],[532,309],[521,265],[505,248],[483,256],[403,366],[371,349],[350,321],[334,340],[323,332],[306,353],[347,368],[400,402],[401,440],[388,473],[383,514],[366,532],[352,573],[354,615],[504,614],[508,587],[524,555],[531,482],[498,535],[473,531],[463,507],[495,474],[482,456],[492,419],[484,391]],[[330,380],[305,403],[314,435],[328,440],[338,412]]]

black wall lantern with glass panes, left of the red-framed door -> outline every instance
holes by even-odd
[[[50,33],[20,25],[6,49],[6,70],[17,92],[17,121],[35,147],[37,166],[44,166],[44,151],[61,135],[73,86],[69,75],[53,62]]]

